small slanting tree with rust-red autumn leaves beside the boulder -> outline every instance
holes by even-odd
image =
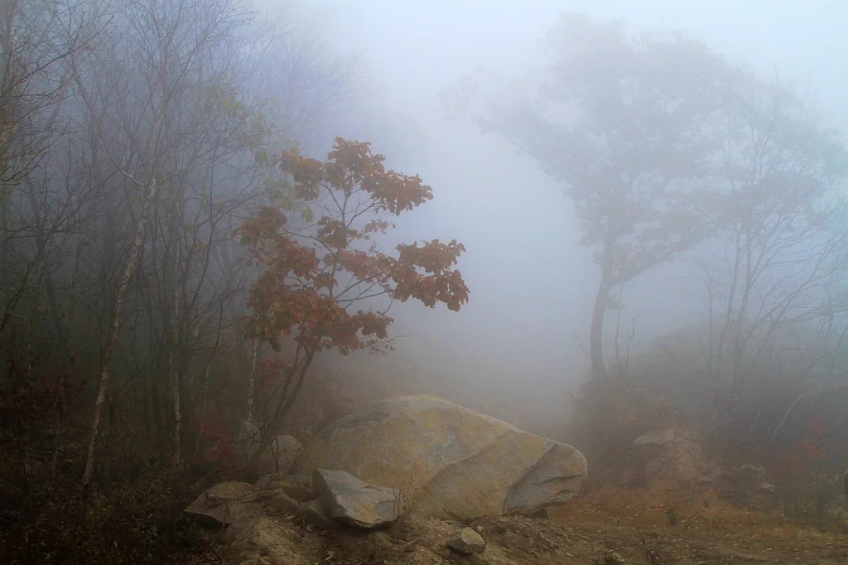
[[[454,311],[468,301],[454,268],[465,251],[461,243],[401,244],[392,257],[373,241],[393,227],[388,214],[399,216],[432,199],[421,178],[387,170],[383,160],[368,143],[341,138],[326,162],[282,152],[279,167],[308,207],[297,218],[285,208],[261,208],[237,232],[265,267],[248,297],[249,331],[285,352],[250,467],[271,446],[316,353],[390,349],[387,312],[394,299],[415,298],[428,307],[442,302]],[[382,309],[375,302],[380,297],[388,299]]]

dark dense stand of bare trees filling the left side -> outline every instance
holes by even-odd
[[[0,561],[164,562],[187,481],[237,460],[258,271],[233,232],[356,86],[275,8],[0,2]]]

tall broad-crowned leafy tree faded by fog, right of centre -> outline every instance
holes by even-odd
[[[699,42],[628,37],[582,16],[564,16],[549,39],[553,63],[531,91],[471,117],[566,185],[582,243],[597,249],[590,355],[603,378],[611,291],[711,234],[713,131],[734,70]]]

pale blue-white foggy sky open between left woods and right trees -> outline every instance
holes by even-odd
[[[683,30],[764,78],[809,81],[828,121],[848,130],[848,3],[839,0],[313,2],[338,46],[364,51],[373,103],[343,134],[373,141],[393,167],[433,186],[435,200],[398,235],[456,238],[468,249],[460,266],[471,302],[459,315],[394,312],[396,330],[415,337],[401,352],[457,378],[585,376],[597,275],[561,186],[505,141],[444,121],[438,98],[481,66],[509,74],[538,62],[538,42],[562,10],[625,18],[636,31]],[[691,321],[683,298],[671,299],[682,296],[682,272],[658,269],[628,289],[628,314],[644,313],[642,340]]]

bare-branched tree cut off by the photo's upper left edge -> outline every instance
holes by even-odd
[[[100,30],[93,11],[87,2],[0,2],[0,335],[15,308],[44,287],[53,345],[63,351],[50,240],[55,230],[69,227],[72,202],[46,187],[39,172],[62,139],[71,84],[67,61]]]

